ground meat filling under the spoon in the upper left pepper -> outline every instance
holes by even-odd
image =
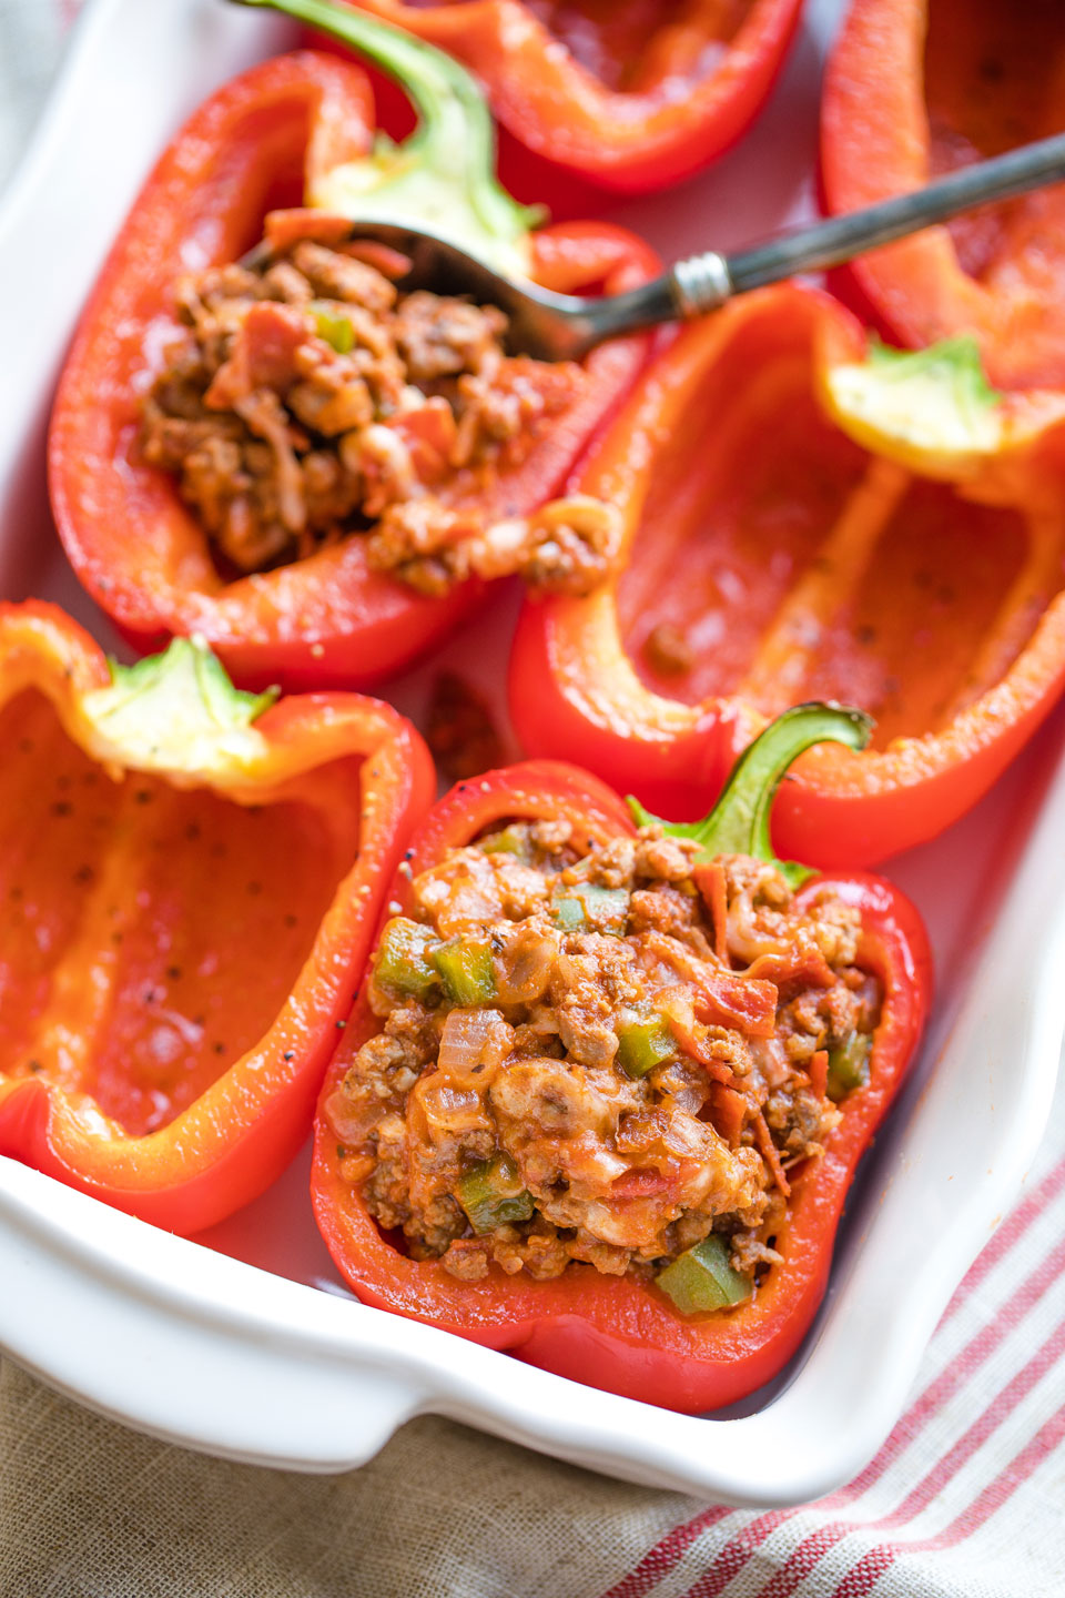
[[[503,312],[399,294],[358,249],[289,238],[262,267],[182,278],[187,331],[145,400],[144,459],[177,476],[230,577],[361,532],[375,570],[426,594],[509,572],[589,593],[618,556],[613,507],[573,497],[492,524],[476,508],[581,368],[505,355]]]

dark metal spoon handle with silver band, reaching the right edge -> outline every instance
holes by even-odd
[[[645,284],[643,289],[621,296],[628,302],[628,318],[624,326],[620,326],[615,313],[608,334],[634,331],[671,316],[701,316],[723,305],[733,294],[779,283],[781,278],[797,272],[835,267],[867,249],[918,233],[932,222],[945,222],[960,211],[971,211],[992,200],[1008,200],[1011,195],[1041,189],[1057,179],[1065,179],[1065,133],[1039,139],[1036,144],[1023,144],[990,161],[964,166],[950,177],[940,177],[939,182],[913,193],[896,195],[864,211],[851,211],[829,222],[818,222],[814,227],[782,233],[731,256],[709,249],[703,256],[679,260],[664,278]],[[664,312],[666,299],[672,310]],[[621,310],[620,304],[616,310]]]

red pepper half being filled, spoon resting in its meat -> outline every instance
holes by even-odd
[[[608,224],[532,232],[492,176],[465,70],[321,10],[402,83],[418,129],[370,150],[369,81],[334,56],[283,56],[222,88],[141,193],[51,423],[56,519],[93,598],[139,647],[200,633],[251,686],[380,678],[485,578],[594,586],[616,515],[554,495],[647,347],[583,366],[511,356],[495,307],[402,292],[404,257],[351,240],[354,216],[430,222],[562,291],[655,267]]]

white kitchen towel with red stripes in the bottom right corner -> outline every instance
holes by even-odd
[[[1027,1195],[955,1293],[905,1414],[854,1481],[802,1509],[712,1505],[604,1598],[1065,1593],[1063,1147],[1059,1090]]]

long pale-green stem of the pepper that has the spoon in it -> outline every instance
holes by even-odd
[[[529,273],[524,206],[495,177],[495,123],[476,78],[434,45],[329,0],[235,0],[283,11],[331,34],[386,72],[418,126],[402,144],[378,134],[374,153],[323,176],[308,200],[362,221],[404,222],[458,244],[511,276]]]

